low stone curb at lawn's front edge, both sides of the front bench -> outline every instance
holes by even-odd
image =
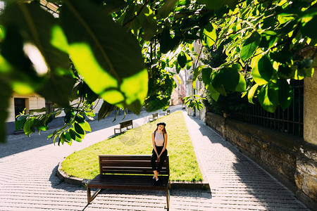
[[[70,177],[66,172],[62,170],[61,162],[58,164],[57,177],[63,179],[68,184],[73,184],[77,186],[85,186],[90,179],[82,179],[77,177]],[[172,189],[190,189],[190,190],[210,190],[209,183],[204,181],[170,181],[170,186]]]

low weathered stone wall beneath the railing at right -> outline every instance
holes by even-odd
[[[213,113],[206,113],[206,124],[298,196],[304,196],[304,192],[313,203],[317,202],[317,146],[296,136]]]

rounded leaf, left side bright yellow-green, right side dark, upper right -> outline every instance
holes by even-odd
[[[273,65],[267,56],[262,56],[252,69],[252,77],[256,84],[267,84],[273,75]]]

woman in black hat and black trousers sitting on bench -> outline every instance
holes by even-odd
[[[163,163],[167,156],[167,142],[168,142],[168,134],[166,132],[166,124],[164,122],[159,122],[156,124],[156,130],[152,133],[152,145],[153,151],[151,155],[151,165],[152,170],[154,172],[153,177],[153,185],[158,186],[160,184],[159,181],[159,173],[163,166]],[[159,162],[159,165],[156,166],[156,160]]]

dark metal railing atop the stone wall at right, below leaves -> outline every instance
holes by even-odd
[[[304,132],[304,80],[292,80],[290,84],[293,89],[293,98],[291,105],[285,110],[278,106],[275,113],[269,113],[256,101],[254,104],[249,103],[247,108],[240,112],[231,113],[230,118],[302,137]]]

